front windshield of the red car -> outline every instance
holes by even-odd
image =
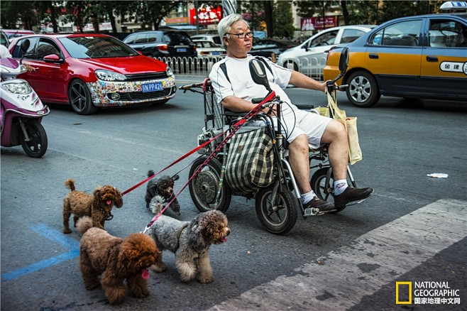
[[[116,58],[139,55],[128,45],[111,37],[66,37],[58,40],[72,58]]]

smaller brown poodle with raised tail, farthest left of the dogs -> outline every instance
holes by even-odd
[[[75,180],[68,178],[65,187],[72,190],[63,200],[63,233],[71,233],[70,216],[74,214],[74,226],[79,217],[92,217],[94,227],[104,229],[104,222],[114,217],[112,207],[121,207],[123,198],[116,187],[105,185],[97,187],[93,195],[75,190]]]

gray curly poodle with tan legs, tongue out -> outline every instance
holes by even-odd
[[[200,283],[211,283],[209,246],[227,241],[230,234],[227,217],[222,212],[211,210],[198,214],[191,222],[180,222],[160,215],[153,227],[148,229],[160,251],[167,249],[175,253],[175,265],[183,282],[197,277]],[[162,258],[153,265],[153,271],[165,271],[167,266]]]

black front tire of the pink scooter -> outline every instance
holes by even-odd
[[[31,158],[41,158],[47,151],[48,139],[45,129],[38,120],[28,121],[24,124],[30,141],[26,141],[23,131],[20,131],[21,147]]]

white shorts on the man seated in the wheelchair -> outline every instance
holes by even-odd
[[[275,129],[277,129],[277,118],[273,118]],[[282,116],[280,123],[282,124],[281,133],[289,143],[292,143],[297,136],[306,134],[310,148],[316,149],[321,146],[321,138],[331,118],[315,114],[314,112],[294,109],[288,111],[285,116]]]

